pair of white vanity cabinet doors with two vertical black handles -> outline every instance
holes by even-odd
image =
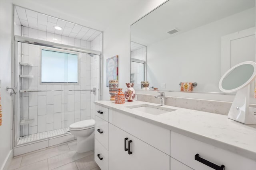
[[[170,170],[170,156],[109,123],[108,166],[110,170]],[[129,141],[131,154],[128,150]]]

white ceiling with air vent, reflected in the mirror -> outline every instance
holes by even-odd
[[[132,41],[150,45],[252,8],[254,0],[170,0],[132,25]]]

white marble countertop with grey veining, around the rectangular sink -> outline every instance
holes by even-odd
[[[115,104],[102,100],[94,103],[256,161],[256,125],[244,125],[228,119],[227,115],[180,107],[162,106],[176,110],[160,115],[127,107],[140,104],[160,106],[149,102]]]

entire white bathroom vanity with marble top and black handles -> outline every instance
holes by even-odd
[[[226,115],[141,101],[94,104],[94,159],[101,170],[256,168],[252,125]]]

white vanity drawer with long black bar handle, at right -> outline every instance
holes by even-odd
[[[196,154],[218,166],[224,165],[225,170],[255,170],[256,167],[256,161],[172,131],[170,150],[173,158],[196,170],[212,170],[195,160]]]

